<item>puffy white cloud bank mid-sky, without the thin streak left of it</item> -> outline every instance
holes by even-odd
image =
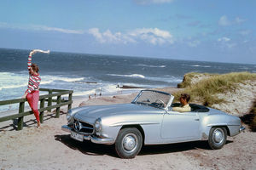
[[[134,43],[137,41],[148,42],[154,45],[163,43],[173,43],[173,37],[169,31],[162,31],[158,28],[140,28],[127,33],[107,30],[100,32],[98,28],[91,28],[89,34],[96,37],[96,40],[101,43]]]

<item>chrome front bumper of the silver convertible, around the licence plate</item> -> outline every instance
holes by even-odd
[[[72,128],[68,127],[67,125],[63,125],[61,127],[61,130],[65,131],[67,133],[71,133]],[[90,140],[92,143],[95,143],[95,144],[114,144],[114,139],[98,138],[93,135],[88,135],[88,136],[84,135],[84,140]]]

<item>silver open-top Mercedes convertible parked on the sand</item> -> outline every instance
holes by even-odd
[[[61,127],[72,139],[96,144],[114,144],[122,158],[137,156],[143,144],[172,144],[207,140],[213,150],[224,146],[227,135],[245,128],[237,116],[203,105],[189,104],[190,112],[172,111],[174,97],[143,90],[131,104],[96,105],[67,112],[67,125]]]

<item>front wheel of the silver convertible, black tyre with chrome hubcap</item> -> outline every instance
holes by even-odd
[[[121,158],[137,156],[143,146],[142,133],[136,127],[121,129],[115,142],[116,153]]]

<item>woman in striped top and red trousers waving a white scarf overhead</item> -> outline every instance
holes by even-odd
[[[27,69],[29,71],[29,79],[28,79],[28,86],[26,89],[25,94],[22,96],[23,99],[27,99],[28,104],[30,105],[36,119],[38,122],[38,127],[40,127],[40,120],[39,120],[39,112],[38,112],[38,100],[39,100],[39,84],[41,82],[41,77],[38,73],[39,67],[36,64],[32,64],[32,55],[38,52],[41,53],[48,53],[44,52],[39,49],[34,49],[30,52],[27,61]]]

